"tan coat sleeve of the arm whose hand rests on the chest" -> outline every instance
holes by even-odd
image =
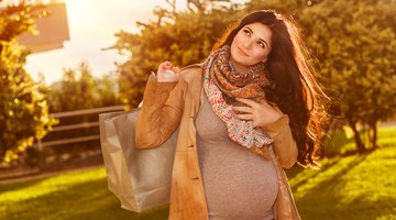
[[[273,147],[284,168],[290,168],[297,162],[297,144],[293,139],[287,114],[282,116],[275,122],[262,127],[273,140]]]

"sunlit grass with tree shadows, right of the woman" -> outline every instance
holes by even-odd
[[[396,220],[396,146],[290,170],[302,219]]]

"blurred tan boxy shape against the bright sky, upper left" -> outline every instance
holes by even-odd
[[[37,35],[23,34],[19,43],[29,47],[32,53],[63,48],[65,41],[70,40],[65,3],[45,6],[48,15],[35,20]]]

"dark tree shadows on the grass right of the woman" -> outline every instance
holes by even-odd
[[[349,175],[349,173],[359,164],[364,162],[364,160],[372,152],[369,152],[361,156],[356,156],[346,165],[343,165],[343,167],[339,170],[326,174],[327,176],[329,176],[328,178],[324,178],[324,180],[319,183],[314,183],[314,187],[311,187],[308,191],[305,191],[304,196],[296,198],[296,204],[301,215],[301,218],[305,220],[371,220],[378,218],[378,215],[395,215],[395,209],[393,207],[395,198],[393,198],[392,195],[387,197],[381,197],[380,199],[373,201],[371,195],[365,194],[364,189],[356,189],[359,190],[360,195],[353,196],[354,199],[351,199],[349,201],[349,194],[345,194],[345,191],[343,191],[346,183],[345,179],[343,179],[342,177]],[[331,167],[340,167],[340,164],[338,164],[339,162],[340,161],[330,164],[330,166],[327,166],[320,172],[316,172],[315,176],[319,175],[319,173],[323,174],[324,172],[328,172]],[[306,178],[301,183],[294,185],[293,190],[299,191],[300,187],[306,187],[308,178]],[[356,185],[356,187],[359,187],[359,185]],[[302,188],[301,191],[304,191]]]

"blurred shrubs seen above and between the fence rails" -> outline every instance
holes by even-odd
[[[106,106],[121,105],[119,98],[117,75],[105,75],[95,78],[87,63],[81,63],[77,68],[64,69],[63,79],[52,85],[46,91],[52,113],[91,109]],[[98,122],[98,113],[59,118],[58,124],[70,125]],[[52,131],[42,141],[58,141],[73,138],[99,135],[98,127],[79,128],[73,130]],[[36,151],[28,151],[25,164],[30,166],[51,166],[67,162],[88,161],[87,155],[100,152],[98,140],[69,143],[64,145],[46,146],[40,154],[45,157],[45,163],[37,164]]]

